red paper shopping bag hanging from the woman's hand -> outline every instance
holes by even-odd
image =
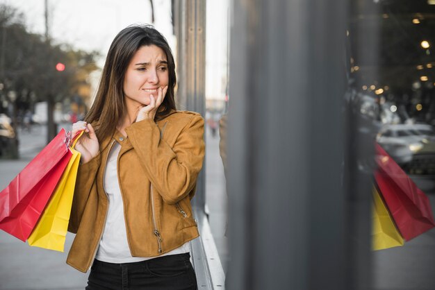
[[[1,230],[26,241],[72,157],[69,139],[62,129],[1,191]]]

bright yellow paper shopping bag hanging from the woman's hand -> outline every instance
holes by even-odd
[[[44,212],[42,212],[40,220],[30,237],[28,237],[27,241],[30,246],[63,252],[81,156],[79,151],[74,150],[74,146],[76,140],[81,137],[81,134],[75,139],[72,146],[69,147],[72,157],[68,162],[67,168],[63,172],[62,178],[60,178]]]

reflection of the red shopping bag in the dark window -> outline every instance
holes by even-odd
[[[376,146],[377,185],[402,237],[409,241],[435,227],[429,198],[379,144]]]

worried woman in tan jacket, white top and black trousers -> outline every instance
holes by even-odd
[[[190,199],[204,158],[204,120],[175,108],[174,58],[151,26],[113,40],[76,144],[81,165],[67,264],[86,289],[197,289]]]

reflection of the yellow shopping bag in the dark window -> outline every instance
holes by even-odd
[[[372,250],[403,246],[404,240],[375,187],[372,195]]]

